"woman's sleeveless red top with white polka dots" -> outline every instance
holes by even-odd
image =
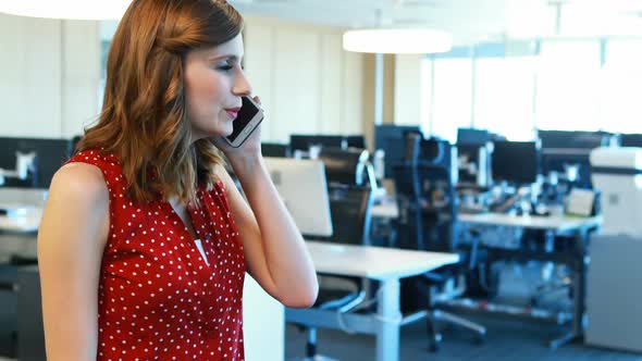
[[[127,198],[116,157],[87,150],[69,162],[98,166],[109,189],[97,359],[243,360],[245,261],[223,184],[189,208],[199,250],[169,202]]]

